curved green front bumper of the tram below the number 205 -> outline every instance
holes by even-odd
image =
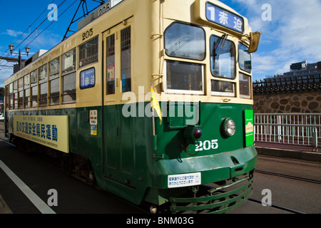
[[[255,168],[257,152],[254,145],[215,155],[158,161],[158,179],[154,186],[168,188],[168,175],[201,172],[202,185],[244,175]]]

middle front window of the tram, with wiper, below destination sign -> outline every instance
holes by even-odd
[[[210,36],[210,71],[214,77],[235,79],[235,45],[225,36]]]

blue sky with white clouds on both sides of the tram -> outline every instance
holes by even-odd
[[[247,17],[253,31],[263,32],[260,47],[253,53],[254,81],[290,71],[291,63],[304,60],[307,60],[307,63],[321,61],[321,0],[221,1]],[[10,43],[14,44],[15,52],[18,52],[19,48],[24,52],[26,45],[29,45],[31,55],[39,49],[49,50],[55,46],[62,40],[79,2],[0,0],[0,56],[9,56]],[[53,24],[46,19],[51,11],[47,7],[51,3],[57,6],[61,4],[58,8],[58,21]],[[87,1],[87,4],[88,9],[98,6],[94,1]],[[70,9],[63,13],[68,6],[71,6]],[[59,16],[60,14],[62,15]],[[49,27],[46,28],[47,26]],[[35,38],[36,34],[40,35]],[[4,80],[11,76],[13,70],[1,65],[12,66],[13,63],[0,61],[0,87],[3,87]]]

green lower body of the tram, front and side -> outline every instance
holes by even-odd
[[[147,102],[133,104],[133,110],[146,105]],[[245,110],[250,110],[251,105],[196,103],[188,106],[185,103],[168,103],[168,116],[163,118],[162,124],[158,117],[153,119],[139,113],[126,117],[123,115],[124,107],[111,105],[9,112],[6,133],[9,138],[14,133],[14,115],[68,115],[69,152],[90,160],[100,187],[135,204],[142,201],[158,205],[171,202],[173,211],[177,211],[183,209],[175,205],[178,198],[195,189],[193,186],[225,180],[237,182],[238,178],[246,175],[250,178],[250,172],[257,163],[255,147],[245,143]],[[171,112],[180,113],[179,110],[185,113],[187,109],[195,116],[193,121],[187,114],[170,115]],[[163,105],[162,111],[166,113]],[[92,112],[97,116],[94,125],[90,121]],[[233,119],[237,127],[232,137],[222,134],[226,118]],[[185,129],[190,126],[197,126],[203,131],[198,142],[186,140]],[[173,186],[170,184],[173,178],[192,178],[195,185]],[[240,199],[246,199],[252,189],[253,180],[246,180],[250,184],[244,184],[245,180],[238,183],[242,186],[237,192],[246,192]],[[208,209],[223,204],[215,204],[222,197],[234,205],[238,202],[232,202],[230,197],[235,193],[225,196],[215,192],[210,198],[200,200],[210,201],[210,206],[206,206]],[[194,202],[198,199],[192,198],[190,203],[199,203]]]

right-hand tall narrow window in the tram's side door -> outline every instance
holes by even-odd
[[[131,26],[121,31],[121,88],[131,91]]]

